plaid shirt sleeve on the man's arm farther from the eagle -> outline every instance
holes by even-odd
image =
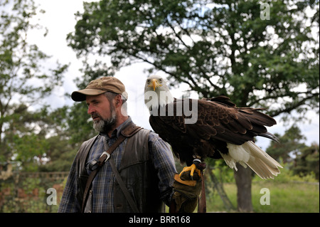
[[[77,154],[78,156],[78,154]],[[65,189],[63,190],[63,196],[60,201],[58,208],[58,213],[78,213],[81,211],[80,204],[77,199],[78,191],[78,170],[76,168],[76,162],[78,160],[77,156],[73,160],[73,164],[70,168],[67,183],[65,184]]]

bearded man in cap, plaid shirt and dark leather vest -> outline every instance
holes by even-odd
[[[73,92],[71,97],[76,102],[87,102],[87,113],[99,134],[81,145],[58,212],[164,212],[164,204],[171,206],[172,201],[181,201],[180,194],[178,198],[174,195],[176,167],[170,147],[157,134],[144,129],[127,137],[114,149],[110,159],[97,171],[88,196],[83,199],[95,161],[132,124],[132,119],[127,115],[128,94],[117,78],[92,80],[87,88]],[[126,190],[122,190],[114,175],[113,163],[136,210],[130,206]]]

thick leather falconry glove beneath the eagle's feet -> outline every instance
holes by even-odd
[[[195,172],[191,180],[190,171],[185,171],[174,176],[175,212],[192,213],[198,205],[198,197],[201,193],[201,176]]]

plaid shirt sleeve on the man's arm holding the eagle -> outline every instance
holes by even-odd
[[[176,174],[176,164],[171,147],[158,134],[150,132],[149,153],[151,154],[154,168],[158,171],[161,199],[169,206],[171,196],[174,193],[174,174]]]

